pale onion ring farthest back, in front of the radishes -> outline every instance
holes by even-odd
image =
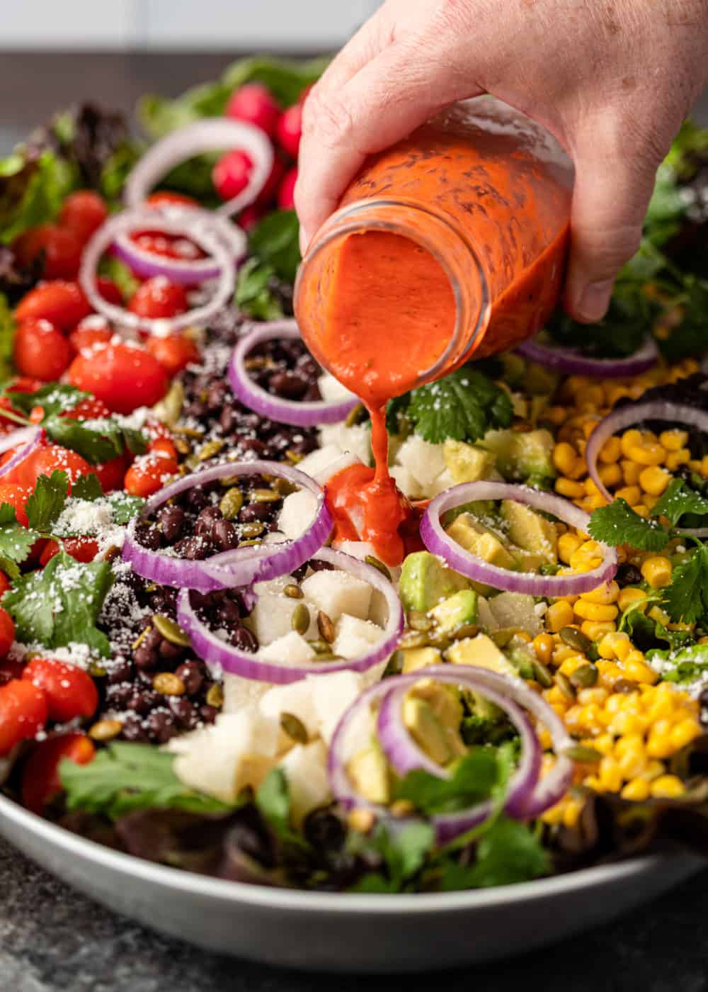
[[[222,203],[218,213],[230,217],[256,199],[273,169],[273,147],[260,128],[229,117],[207,117],[186,124],[156,142],[143,155],[128,177],[124,198],[128,206],[138,206],[175,166],[204,152],[230,152],[241,149],[253,163],[248,183],[232,199]]]

